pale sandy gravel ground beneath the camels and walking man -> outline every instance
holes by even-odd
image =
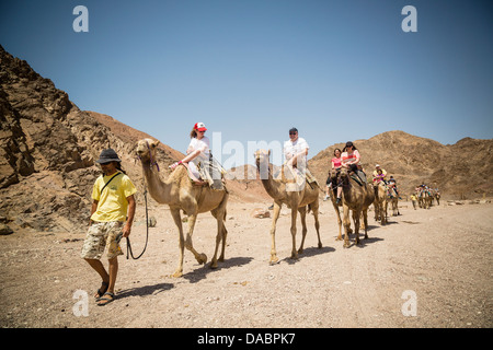
[[[369,238],[345,249],[335,241],[332,205],[321,202],[323,247],[317,248],[310,214],[305,253],[296,261],[284,209],[276,237],[280,261],[273,266],[271,219],[250,217],[268,205],[230,203],[226,261],[211,270],[185,252],[179,279],[170,277],[179,257],[176,229],[167,207],[152,210],[158,224],[148,249],[139,260],[119,258],[118,299],[104,307],[92,298],[98,275],[79,258],[85,232],[0,236],[0,327],[493,326],[493,205],[413,210],[403,202],[400,217],[386,226],[371,217]],[[145,242],[142,218],[139,208],[136,254]],[[215,235],[214,218],[202,214],[194,246],[209,260]]]

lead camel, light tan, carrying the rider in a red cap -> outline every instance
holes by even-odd
[[[183,276],[183,257],[184,248],[191,250],[198,264],[206,264],[207,256],[195,250],[192,243],[192,234],[195,226],[195,221],[198,213],[210,211],[213,217],[217,220],[217,236],[216,249],[210,261],[210,268],[217,268],[217,261],[225,260],[226,236],[228,231],[225,226],[226,220],[226,205],[228,202],[227,190],[215,190],[208,186],[194,185],[188,177],[188,170],[186,166],[176,167],[170,176],[161,180],[158,172],[154,171],[156,163],[156,148],[159,141],[151,139],[144,139],[137,143],[137,154],[140,159],[144,170],[144,176],[151,197],[160,205],[168,205],[170,207],[171,215],[180,232],[180,259],[179,266],[172,277]],[[157,166],[156,166],[157,167]],[[159,171],[159,168],[158,168]],[[188,215],[188,231],[186,240],[183,235],[182,219],[180,210],[183,210]],[[222,242],[221,254],[217,258],[219,244]]]

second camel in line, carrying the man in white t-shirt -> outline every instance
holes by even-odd
[[[286,205],[291,209],[291,237],[293,237],[293,249],[291,249],[291,259],[298,259],[298,254],[303,252],[305,237],[307,235],[307,207],[308,212],[311,210],[314,217],[314,225],[317,230],[317,235],[319,238],[318,247],[322,247],[322,242],[320,240],[320,223],[319,223],[319,192],[321,189],[318,184],[305,184],[303,188],[299,191],[290,191],[286,190],[286,182],[283,179],[274,179],[268,168],[268,158],[271,155],[271,151],[266,150],[257,150],[255,153],[255,162],[256,167],[261,174],[262,185],[267,191],[268,196],[274,199],[274,212],[272,218],[272,226],[271,226],[271,259],[270,264],[276,264],[278,261],[277,253],[276,253],[276,243],[275,243],[275,233],[276,233],[276,223],[277,219],[279,219],[280,207]],[[267,176],[264,176],[264,171],[267,170]],[[284,177],[284,176],[283,176]],[[296,218],[297,212],[301,215],[301,225],[302,225],[302,237],[301,244],[298,250],[296,250]]]

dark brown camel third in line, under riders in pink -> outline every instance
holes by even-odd
[[[368,238],[368,207],[375,200],[375,191],[371,185],[363,183],[359,185],[346,168],[341,170],[342,179],[342,200],[343,200],[343,223],[344,223],[344,247],[349,247],[349,210],[353,212],[354,232],[356,234],[355,243],[359,244],[359,218],[363,214],[365,225],[365,240]]]

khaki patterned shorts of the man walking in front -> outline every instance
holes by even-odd
[[[84,245],[80,254],[83,259],[101,259],[104,249],[107,248],[106,256],[110,259],[123,255],[116,236],[122,232],[122,221],[93,222],[88,229]]]

